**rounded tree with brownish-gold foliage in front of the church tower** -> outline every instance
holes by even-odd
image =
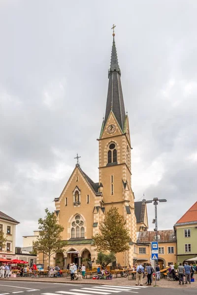
[[[99,226],[100,233],[93,236],[96,250],[115,254],[129,250],[131,238],[125,226],[126,219],[118,213],[118,208],[111,207]]]

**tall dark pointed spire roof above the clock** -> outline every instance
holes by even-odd
[[[104,125],[109,117],[110,111],[112,111],[123,131],[125,122],[125,105],[123,99],[123,91],[120,79],[121,71],[118,65],[118,58],[116,52],[115,40],[113,38],[111,64],[109,69],[109,84],[107,93],[107,103],[104,118]]]

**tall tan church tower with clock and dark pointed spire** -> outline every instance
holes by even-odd
[[[132,263],[132,243],[136,242],[134,195],[131,189],[132,148],[114,36],[113,33],[106,110],[99,136],[99,183],[103,186],[102,206],[105,210],[108,211],[111,206],[118,207],[119,213],[127,220],[131,247],[129,251],[119,253],[117,258],[128,265]]]

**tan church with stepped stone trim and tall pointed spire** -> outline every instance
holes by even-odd
[[[87,265],[89,259],[94,265],[97,252],[92,236],[99,232],[99,224],[112,205],[125,217],[131,236],[130,249],[117,253],[117,264],[129,266],[137,260],[134,251],[136,233],[148,228],[146,205],[136,202],[135,207],[131,189],[130,127],[125,112],[114,32],[108,80],[105,116],[98,139],[99,181],[94,182],[81,169],[77,155],[77,164],[66,186],[60,197],[54,200],[58,222],[64,227],[63,240],[67,241],[67,245],[64,253],[54,255],[50,265],[58,263],[66,267],[72,262]]]

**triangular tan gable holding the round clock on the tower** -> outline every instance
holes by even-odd
[[[121,135],[121,134],[123,134],[123,132],[120,128],[120,125],[114,113],[111,111],[105,125],[104,124],[102,125],[102,130],[100,132],[100,139],[110,138],[110,137]]]

